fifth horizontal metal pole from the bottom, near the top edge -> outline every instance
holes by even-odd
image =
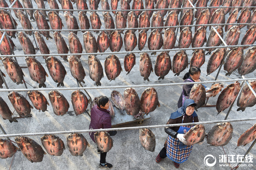
[[[17,0],[16,0],[17,1]],[[173,10],[173,9],[205,9],[205,8],[253,8],[253,7],[186,7],[186,8],[154,8],[154,9],[86,9],[86,10],[81,10],[81,9],[51,9],[51,8],[0,8],[0,9],[26,9],[26,10],[46,10],[46,11],[88,11],[88,12],[93,12],[93,11],[157,11],[157,10]]]

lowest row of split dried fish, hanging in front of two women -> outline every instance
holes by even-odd
[[[184,138],[188,145],[197,144],[207,137],[207,144],[210,146],[224,146],[229,143],[233,135],[233,127],[229,122],[218,123],[205,135],[205,128],[203,125],[196,125],[192,127]],[[102,152],[109,152],[113,146],[113,140],[108,132],[94,133],[94,139],[98,148]],[[256,139],[256,124],[244,132],[238,139],[237,146],[246,145]],[[139,130],[139,140],[141,145],[148,151],[155,151],[155,135],[147,128]],[[55,135],[45,135],[41,137],[41,143],[45,148],[37,144],[36,141],[29,137],[15,137],[18,147],[11,141],[5,138],[0,138],[0,158],[11,158],[18,150],[20,150],[28,161],[41,162],[43,161],[46,152],[49,155],[61,156],[64,152],[65,145],[61,138]],[[67,136],[67,146],[73,156],[83,156],[87,145],[90,146],[82,134],[72,133]]]

